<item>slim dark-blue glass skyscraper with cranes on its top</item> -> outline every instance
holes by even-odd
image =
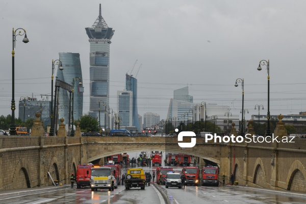
[[[137,79],[129,74],[125,74],[125,89],[133,93],[132,126],[137,127],[138,131],[140,131],[137,108]]]

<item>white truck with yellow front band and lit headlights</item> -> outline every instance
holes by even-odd
[[[115,170],[114,170],[115,171]],[[109,189],[114,191],[114,181],[112,180],[112,169],[110,167],[93,167],[91,168],[90,175],[90,188],[91,191],[97,189]]]

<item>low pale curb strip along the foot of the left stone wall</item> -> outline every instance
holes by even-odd
[[[54,187],[35,187],[35,188],[29,188],[23,189],[22,191],[18,191],[20,189],[13,189],[13,190],[4,190],[0,191],[0,198],[10,197],[12,195],[29,195],[33,193],[43,193],[43,192],[52,192],[52,191],[59,191],[65,188],[71,188],[70,185],[67,186],[54,186]]]

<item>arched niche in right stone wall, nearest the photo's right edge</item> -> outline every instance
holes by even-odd
[[[295,181],[294,180],[299,180],[299,184],[297,184],[297,187],[303,188],[305,190],[305,178],[306,178],[306,169],[304,165],[299,161],[295,160],[289,169],[288,175],[287,175],[287,190],[295,190]],[[292,189],[293,188],[293,189]],[[304,191],[303,190],[303,191]]]

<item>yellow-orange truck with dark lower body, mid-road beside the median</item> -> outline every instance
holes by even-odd
[[[132,187],[140,187],[144,190],[145,175],[142,168],[129,168],[125,176],[125,189],[129,190]]]

